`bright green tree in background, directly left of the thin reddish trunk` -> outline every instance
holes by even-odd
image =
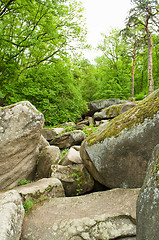
[[[131,58],[127,55],[128,45],[119,32],[113,29],[109,35],[103,34],[104,39],[98,46],[102,51],[102,56],[96,59],[101,87],[95,94],[96,98],[130,97]]]

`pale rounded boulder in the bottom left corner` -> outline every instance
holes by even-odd
[[[0,239],[19,240],[23,219],[24,208],[18,192],[0,193]]]

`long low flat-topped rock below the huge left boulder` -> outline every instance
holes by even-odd
[[[65,197],[62,183],[57,178],[43,178],[37,182],[16,187],[15,190],[22,196],[23,202],[30,199],[38,201],[55,197]]]

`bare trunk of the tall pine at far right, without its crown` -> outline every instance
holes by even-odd
[[[148,83],[149,83],[149,94],[151,94],[154,91],[153,64],[152,64],[153,43],[152,43],[151,33],[148,28],[148,20],[149,18],[147,18],[147,21],[145,24],[145,30],[146,30],[147,40],[148,40],[147,75],[148,75]]]

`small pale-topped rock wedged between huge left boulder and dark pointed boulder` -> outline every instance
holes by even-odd
[[[47,141],[51,141],[54,137],[65,132],[64,128],[43,128],[42,135],[46,138]]]

